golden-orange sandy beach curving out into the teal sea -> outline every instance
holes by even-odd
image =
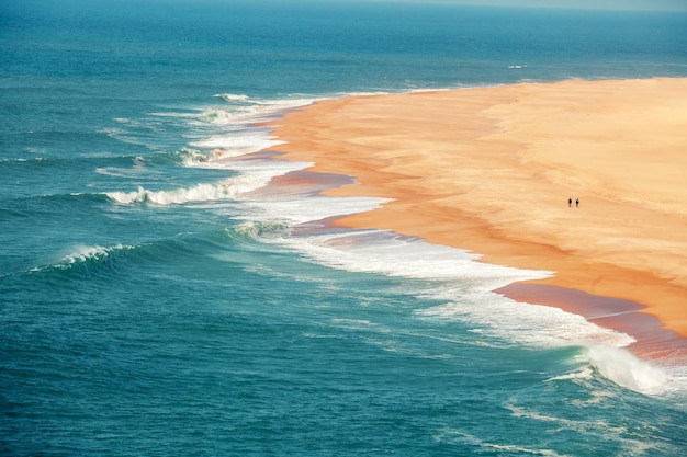
[[[551,306],[551,290],[622,299],[632,306],[618,313],[687,336],[687,79],[350,96],[273,128],[281,158],[354,179],[325,194],[393,198],[334,224],[551,271],[498,292]]]

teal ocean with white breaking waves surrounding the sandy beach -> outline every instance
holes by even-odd
[[[0,455],[683,456],[687,367],[320,220],[257,123],[318,99],[687,77],[687,14],[0,3]]]

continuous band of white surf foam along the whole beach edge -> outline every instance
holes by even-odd
[[[382,230],[314,230],[303,232],[313,221],[329,217],[368,212],[388,199],[371,197],[269,196],[249,195],[266,186],[271,179],[290,171],[303,170],[309,163],[277,160],[237,160],[237,157],[273,148],[278,141],[269,128],[249,127],[273,119],[284,110],[304,106],[312,99],[256,100],[243,94],[217,94],[228,103],[226,110],[216,107],[195,113],[193,122],[215,130],[205,138],[190,142],[194,149],[184,151],[187,167],[226,169],[239,175],[219,183],[190,187],[109,193],[121,204],[154,203],[157,205],[241,199],[249,209],[244,219],[274,222],[279,230],[260,238],[289,247],[313,262],[330,267],[408,277],[426,281],[416,293],[440,306],[418,310],[423,319],[460,320],[478,327],[487,336],[507,342],[543,347],[583,345],[590,347],[589,363],[609,379],[628,388],[658,391],[665,382],[661,372],[627,356],[618,347],[633,340],[623,333],[602,329],[552,307],[515,302],[491,290],[513,282],[543,278],[550,272],[511,269],[477,262],[478,255],[466,251],[432,245],[419,239],[398,237]],[[203,127],[205,128],[205,127]],[[217,133],[216,129],[222,129]],[[236,217],[235,214],[232,215]],[[290,233],[289,227],[297,228]],[[285,228],[285,229],[284,229]],[[296,235],[296,232],[299,235]],[[256,231],[261,237],[261,231]],[[414,286],[415,287],[415,286]],[[609,350],[610,347],[610,350]],[[619,364],[631,374],[613,368]],[[581,372],[586,376],[586,372]]]

